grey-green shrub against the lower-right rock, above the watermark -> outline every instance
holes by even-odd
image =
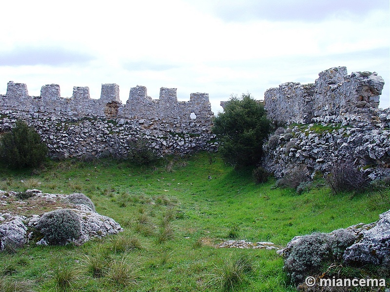
[[[340,261],[354,240],[355,236],[346,229],[302,236],[292,246],[287,245],[284,268],[292,282],[299,284],[309,273],[319,273],[327,261]]]

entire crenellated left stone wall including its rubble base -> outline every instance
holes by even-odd
[[[51,156],[126,157],[129,141],[146,139],[160,154],[215,149],[211,134],[214,113],[207,93],[191,93],[177,101],[176,89],[161,88],[159,99],[146,87],[130,90],[122,104],[117,84],[102,84],[99,99],[88,87],[74,87],[73,96],[60,96],[57,84],[42,86],[40,96],[29,96],[27,86],[10,81],[0,95],[0,131],[17,119],[33,125],[42,135]]]

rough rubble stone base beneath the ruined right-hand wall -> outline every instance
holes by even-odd
[[[263,148],[263,166],[275,177],[283,177],[299,165],[312,177],[316,171],[326,172],[340,159],[363,167],[371,179],[390,175],[389,128],[309,124],[289,126],[285,133],[273,136]]]

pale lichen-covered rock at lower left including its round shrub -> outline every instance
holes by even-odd
[[[43,215],[34,214],[27,217],[15,216],[11,213],[0,214],[0,251],[7,246],[12,248],[22,246],[31,238],[34,238],[33,235],[36,233],[36,230],[40,230],[44,235],[37,242],[37,244],[41,245],[67,244],[71,242],[81,245],[94,237],[105,237],[123,231],[120,224],[114,219],[100,215],[92,210],[88,204],[92,201],[82,194],[82,196],[80,194],[74,196],[80,200],[72,200],[73,202],[70,203],[68,200],[69,196],[66,195],[45,194],[39,190],[31,190],[31,193],[34,193],[34,195],[28,196],[25,201],[17,201],[17,193],[0,190],[0,196],[1,194],[3,196],[7,194],[5,200],[9,201],[14,198],[18,206],[24,206],[20,210],[34,206],[35,211],[38,214],[42,214],[43,212],[39,211],[39,204],[44,205],[47,202],[49,205],[55,205],[57,209]],[[62,216],[63,213],[70,213],[70,217],[73,219],[69,216]],[[60,216],[54,216],[56,218],[52,220],[54,217],[50,214],[60,214]],[[72,220],[69,221],[69,218]],[[76,222],[77,226],[73,223],[73,225],[69,225],[69,222]]]

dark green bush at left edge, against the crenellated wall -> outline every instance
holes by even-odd
[[[1,161],[12,168],[37,167],[46,154],[40,135],[24,121],[18,120],[15,128],[1,137]]]

